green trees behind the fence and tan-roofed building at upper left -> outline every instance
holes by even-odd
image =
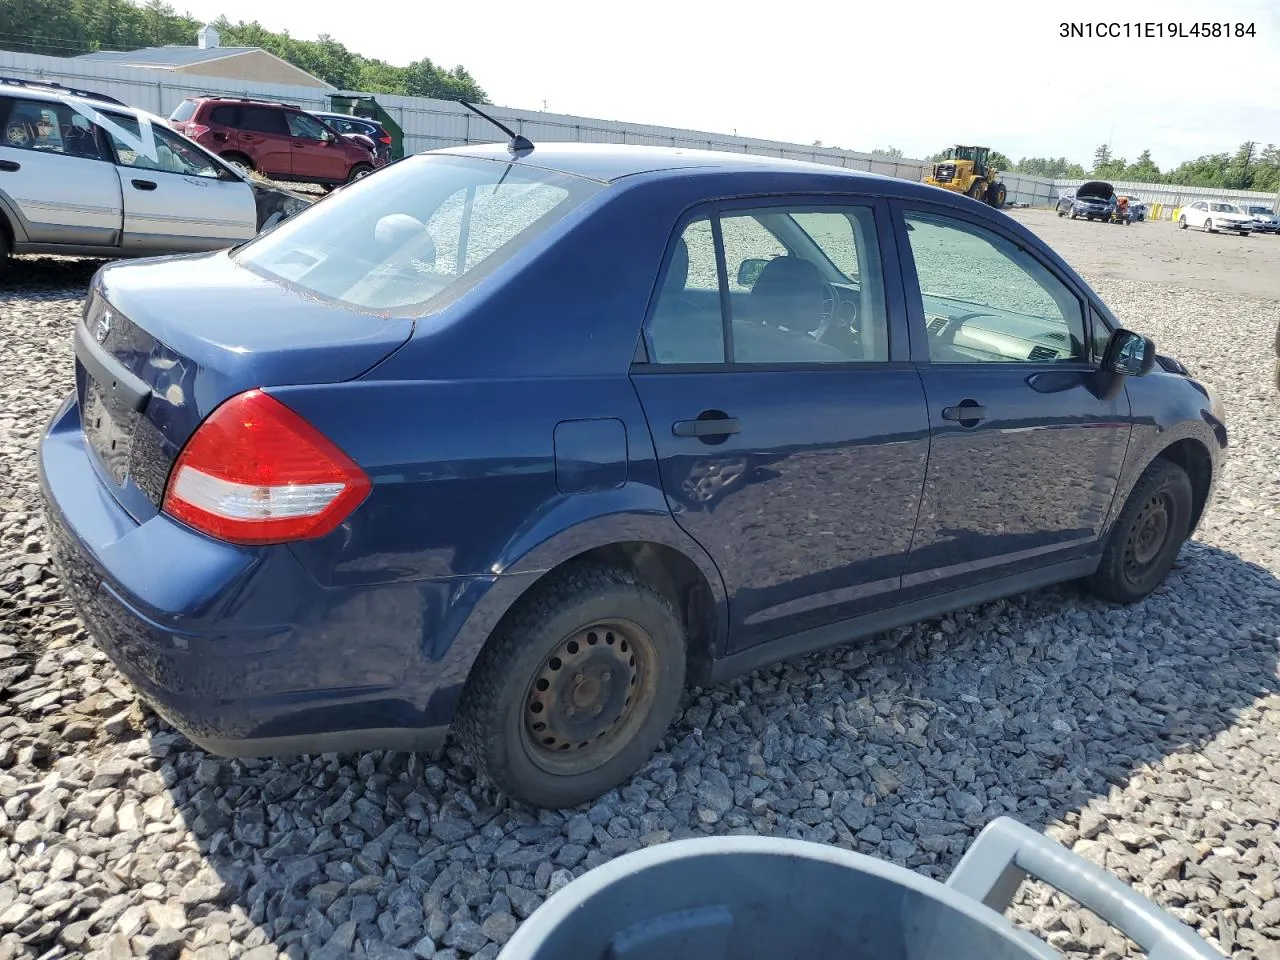
[[[205,24],[164,0],[0,0],[0,50],[78,56],[166,44],[193,46]],[[429,58],[407,67],[352,52],[328,33],[298,40],[253,23],[214,22],[223,46],[257,46],[340,90],[489,102],[465,67],[445,69]]]

